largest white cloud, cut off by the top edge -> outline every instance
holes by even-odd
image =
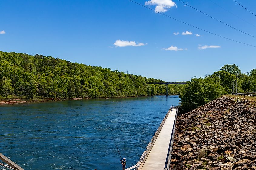
[[[166,12],[174,6],[177,8],[177,5],[172,0],[149,0],[145,2],[145,5],[156,5],[155,11],[157,12]]]

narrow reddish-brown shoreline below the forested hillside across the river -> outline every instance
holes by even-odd
[[[178,94],[176,94],[178,95]],[[158,96],[158,95],[155,95]],[[159,96],[165,96],[165,95],[159,95]],[[169,95],[169,96],[175,96],[175,95]],[[113,97],[113,98],[134,98],[134,97],[153,97],[153,96],[125,96],[125,97]],[[1,100],[0,99],[0,106],[1,105],[12,105],[12,104],[19,104],[19,103],[36,103],[36,102],[48,102],[48,101],[65,101],[65,100],[82,100],[82,99],[110,99],[108,98],[66,98],[66,99],[59,99],[59,98],[33,98],[33,99],[7,99],[7,100]]]

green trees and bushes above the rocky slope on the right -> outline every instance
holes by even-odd
[[[233,83],[236,92],[236,82],[237,92],[256,92],[256,69],[244,74],[239,66],[226,64],[212,75],[206,75],[204,78],[194,77],[180,90],[181,106],[190,111],[221,95],[231,94]]]

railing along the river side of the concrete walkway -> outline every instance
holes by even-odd
[[[175,106],[175,107],[173,107],[173,108],[178,108],[178,106]],[[154,145],[154,143],[155,143],[155,140],[156,140],[158,134],[160,133],[162,127],[164,126],[165,120],[167,119],[167,117],[168,117],[168,115],[169,115],[170,112],[171,112],[171,107],[170,107],[170,109],[168,110],[168,112],[167,112],[167,114],[165,115],[165,117],[164,117],[164,119],[162,120],[162,122],[160,123],[160,125],[159,125],[158,129],[156,130],[154,136],[152,137],[152,139],[151,139],[150,142],[148,143],[148,146],[146,147],[146,150],[145,150],[145,151],[143,152],[143,154],[141,155],[140,161],[138,161],[136,165],[134,165],[134,166],[132,166],[132,167],[129,167],[129,168],[126,168],[126,170],[138,170],[138,169],[140,168],[141,163],[142,163],[142,164],[145,163],[145,161],[146,161],[146,159],[147,159],[147,157],[148,157],[148,154],[149,154],[149,152],[151,151],[151,149],[152,149],[152,147],[153,147],[153,145]],[[177,112],[176,112],[176,114],[177,114]]]

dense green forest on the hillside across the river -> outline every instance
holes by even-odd
[[[146,85],[146,82],[163,81],[51,56],[0,51],[1,99],[165,95],[165,85]],[[180,87],[168,85],[168,94],[178,94]]]

